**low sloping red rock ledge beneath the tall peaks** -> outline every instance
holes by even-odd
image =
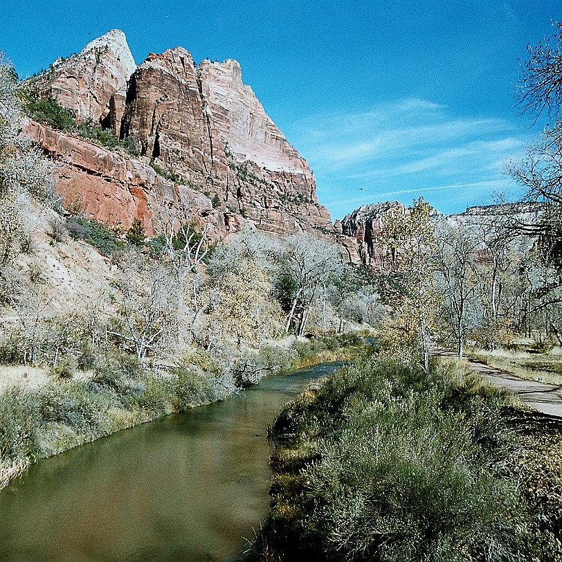
[[[55,188],[64,206],[126,230],[135,217],[147,234],[158,230],[158,212],[181,209],[188,219],[209,225],[213,241],[252,223],[212,208],[204,194],[158,175],[146,162],[113,152],[51,127],[28,121],[25,133],[55,162]],[[181,215],[177,215],[181,218]]]

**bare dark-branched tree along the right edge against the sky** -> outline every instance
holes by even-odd
[[[518,84],[518,103],[523,113],[541,114],[553,119],[540,136],[527,147],[520,161],[511,162],[507,172],[527,190],[514,213],[511,228],[532,240],[532,255],[541,260],[538,271],[525,269],[529,294],[525,323],[530,328],[532,310],[562,302],[562,25],[554,22],[554,34],[536,46],[527,46]],[[545,275],[545,273],[547,273]],[[538,285],[541,282],[542,285]],[[559,318],[549,320],[554,332]]]

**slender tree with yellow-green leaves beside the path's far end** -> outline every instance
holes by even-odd
[[[420,197],[408,208],[390,210],[377,235],[377,246],[392,252],[401,281],[401,293],[393,303],[396,316],[393,336],[399,343],[421,351],[426,370],[438,302],[433,287],[431,256],[435,237],[430,217],[429,203]]]

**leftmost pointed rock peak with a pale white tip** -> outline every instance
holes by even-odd
[[[53,96],[76,112],[78,120],[109,126],[109,103],[136,69],[125,33],[114,29],[93,39],[82,51],[58,59],[46,73],[33,79],[41,96]]]

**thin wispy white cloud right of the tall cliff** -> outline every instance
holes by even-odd
[[[462,206],[461,191],[466,205],[474,204],[485,190],[507,184],[502,162],[525,144],[508,120],[455,116],[418,98],[311,116],[293,124],[291,133],[316,173],[320,200],[336,216],[352,205],[418,192],[428,192],[445,211],[453,199]],[[345,197],[357,190],[357,197]]]

